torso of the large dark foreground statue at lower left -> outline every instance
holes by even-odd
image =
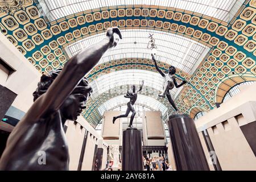
[[[35,122],[25,119],[29,118],[25,115],[11,133],[0,169],[68,170],[68,146],[59,111]]]

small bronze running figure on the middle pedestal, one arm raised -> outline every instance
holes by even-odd
[[[126,113],[122,114],[122,115],[118,115],[117,117],[113,117],[113,124],[115,123],[116,119],[127,117],[129,115],[130,111],[131,111],[132,114],[131,114],[130,124],[129,124],[128,127],[133,128],[133,119],[134,119],[135,114],[136,114],[133,105],[135,104],[135,102],[137,100],[137,97],[138,97],[137,94],[138,94],[138,92],[141,92],[143,85],[144,85],[144,80],[142,80],[142,85],[139,86],[138,90],[136,90],[136,86],[133,85],[133,92],[129,92],[129,90],[127,91],[127,93],[125,95],[125,98],[130,98],[130,101],[127,103]]]

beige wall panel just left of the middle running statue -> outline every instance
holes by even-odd
[[[102,138],[104,139],[119,139],[120,135],[120,118],[115,120],[113,124],[113,117],[120,115],[121,111],[105,111],[104,123],[102,127]]]

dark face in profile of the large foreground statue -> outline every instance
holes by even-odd
[[[61,105],[61,115],[68,120],[76,121],[77,117],[85,109],[87,96],[82,94],[71,94]]]

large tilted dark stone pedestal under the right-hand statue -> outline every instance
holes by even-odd
[[[195,122],[187,114],[175,114],[168,121],[177,171],[209,171]]]

